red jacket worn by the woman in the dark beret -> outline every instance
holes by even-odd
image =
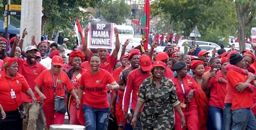
[[[183,102],[186,102],[186,99],[184,97],[184,93],[182,91],[182,86],[181,86],[181,83],[179,82],[179,80],[177,78],[171,78],[171,80],[173,81],[173,83],[175,84],[175,87],[176,87],[176,93],[177,93],[177,97],[179,98],[180,102],[183,103]],[[188,94],[189,94],[189,91],[190,90],[194,90],[194,93],[195,91],[197,91],[197,87],[198,87],[198,83],[197,81],[195,81],[195,79],[190,76],[190,75],[186,75],[184,78],[182,78],[182,81],[183,81],[183,86],[184,86],[184,89],[185,89],[185,95],[186,97],[188,97]],[[197,104],[195,103],[195,97],[193,97],[193,99],[189,102],[189,105],[187,105],[187,109],[192,111],[194,109],[197,109]],[[185,108],[182,108],[181,107],[181,110],[184,114],[187,114],[189,113],[190,111],[187,111]]]

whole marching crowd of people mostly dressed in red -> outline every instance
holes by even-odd
[[[236,50],[197,57],[166,45],[164,52],[132,49],[120,59],[117,28],[112,54],[82,47],[70,52],[47,41],[23,47],[27,35],[0,38],[0,129],[49,129],[69,124],[86,129],[256,129],[254,52]],[[25,48],[25,51],[22,50]],[[66,102],[64,112],[57,97]],[[114,117],[114,118],[113,118]]]

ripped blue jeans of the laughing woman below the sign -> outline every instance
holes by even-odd
[[[98,109],[83,105],[83,116],[87,130],[108,129],[109,108]]]

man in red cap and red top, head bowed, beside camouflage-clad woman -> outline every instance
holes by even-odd
[[[135,70],[130,71],[127,79],[127,85],[126,90],[124,91],[124,113],[125,117],[127,119],[128,117],[128,108],[130,104],[130,96],[132,94],[132,105],[131,105],[131,112],[134,113],[140,84],[144,81],[144,79],[148,78],[150,76],[149,71],[152,68],[151,59],[148,57],[148,55],[142,55],[140,57],[140,68],[137,68]],[[140,110],[142,112],[142,110]],[[132,120],[132,117],[129,117],[127,119],[129,121]],[[142,129],[142,126],[140,124],[140,114],[137,116],[137,123],[134,129]]]

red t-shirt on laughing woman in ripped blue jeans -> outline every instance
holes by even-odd
[[[108,108],[108,84],[114,82],[113,76],[100,68],[99,73],[92,75],[85,71],[80,79],[80,84],[85,86],[83,104],[92,108]]]

